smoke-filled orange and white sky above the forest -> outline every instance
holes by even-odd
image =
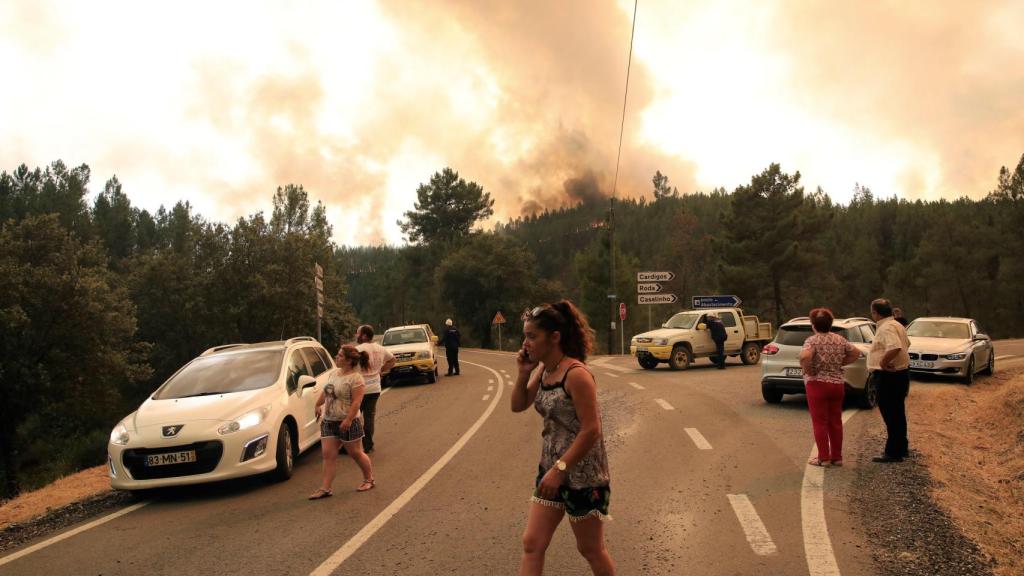
[[[610,195],[633,3],[0,3],[0,169],[61,159],[231,222],[278,186],[399,243],[451,166],[502,220]],[[617,194],[980,198],[1024,153],[1024,2],[640,0]]]

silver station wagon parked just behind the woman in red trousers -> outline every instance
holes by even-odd
[[[866,318],[837,318],[831,331],[860,351],[860,358],[843,368],[847,393],[856,397],[861,408],[873,408],[879,393],[868,377],[867,351],[874,338],[874,323]],[[761,396],[765,402],[777,404],[783,395],[806,393],[800,351],[813,333],[810,319],[795,318],[780,326],[775,339],[761,351]]]

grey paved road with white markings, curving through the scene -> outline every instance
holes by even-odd
[[[1021,356],[1024,340],[996,349]],[[511,355],[462,358],[462,376],[389,388],[381,399],[376,490],[352,491],[359,476],[343,459],[335,496],[305,500],[318,482],[314,449],[289,482],[163,491],[130,513],[0,565],[0,573],[513,573],[541,421],[508,408]],[[814,477],[805,464],[812,438],[803,397],[765,404],[758,366],[718,371],[700,361],[685,372],[644,371],[630,358],[602,357],[592,367],[612,472],[607,535],[621,574],[808,574],[808,553],[821,550],[805,549],[808,502],[815,507],[806,489]],[[847,452],[878,450],[860,442],[877,412],[848,415]],[[827,534],[812,534],[830,544],[839,570],[831,574],[860,576],[873,567],[847,510],[851,475],[851,467],[824,474],[816,505]],[[829,573],[831,558],[815,561],[819,573]],[[548,573],[586,573],[567,526],[549,550]]]

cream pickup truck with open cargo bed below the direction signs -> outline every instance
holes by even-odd
[[[706,324],[715,313],[725,325],[726,356],[738,356],[743,364],[757,364],[761,348],[771,341],[771,324],[740,308],[689,310],[674,315],[658,330],[637,334],[630,340],[630,354],[648,370],[667,362],[673,370],[685,370],[697,358],[715,356],[715,342]]]

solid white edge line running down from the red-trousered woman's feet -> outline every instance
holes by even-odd
[[[857,411],[843,412],[843,423]],[[811,446],[811,455],[817,454],[817,447]],[[804,466],[804,484],[800,491],[800,519],[804,528],[804,556],[810,576],[840,576],[839,564],[833,551],[828,526],[825,524],[824,482],[825,469],[821,466]]]

